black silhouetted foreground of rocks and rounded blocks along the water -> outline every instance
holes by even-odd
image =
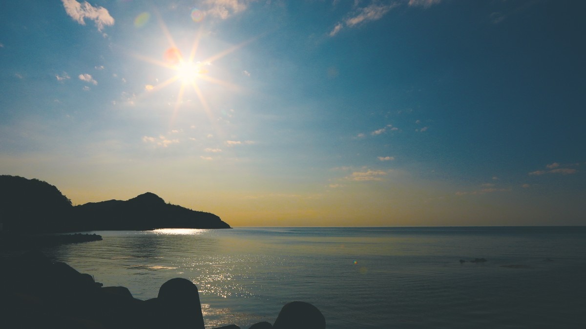
[[[197,287],[187,279],[171,279],[158,297],[139,300],[125,287],[103,287],[91,275],[51,262],[38,251],[2,263],[1,328],[205,328]],[[261,322],[249,329],[325,327],[315,306],[293,301],[285,304],[274,324]]]

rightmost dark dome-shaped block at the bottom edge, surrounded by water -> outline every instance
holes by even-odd
[[[272,327],[274,329],[324,329],[326,319],[312,304],[292,301],[283,306]]]

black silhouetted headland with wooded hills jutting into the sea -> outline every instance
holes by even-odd
[[[217,215],[165,203],[154,193],[73,206],[45,181],[9,175],[0,176],[0,224],[4,234],[230,228]]]

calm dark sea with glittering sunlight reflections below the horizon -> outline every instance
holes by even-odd
[[[45,252],[138,299],[188,278],[207,328],[272,323],[294,300],[328,328],[586,327],[586,227],[95,233]],[[459,262],[475,258],[488,261]]]

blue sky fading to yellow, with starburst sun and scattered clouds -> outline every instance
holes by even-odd
[[[583,1],[9,1],[0,174],[244,226],[586,225]]]

